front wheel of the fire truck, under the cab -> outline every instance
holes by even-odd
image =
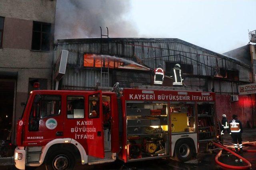
[[[47,170],[73,170],[75,156],[69,150],[55,150],[49,154],[46,160]]]

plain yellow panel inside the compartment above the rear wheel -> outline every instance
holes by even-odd
[[[174,132],[185,132],[188,128],[187,113],[171,113],[171,129]]]

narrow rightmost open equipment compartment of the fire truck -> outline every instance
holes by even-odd
[[[198,104],[198,139],[205,141],[216,138],[214,104]]]

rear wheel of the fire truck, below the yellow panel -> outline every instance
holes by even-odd
[[[186,162],[193,156],[193,146],[189,140],[180,140],[176,143],[174,150],[175,160]]]

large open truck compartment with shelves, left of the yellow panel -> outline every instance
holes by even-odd
[[[128,159],[169,155],[167,103],[127,103]]]

